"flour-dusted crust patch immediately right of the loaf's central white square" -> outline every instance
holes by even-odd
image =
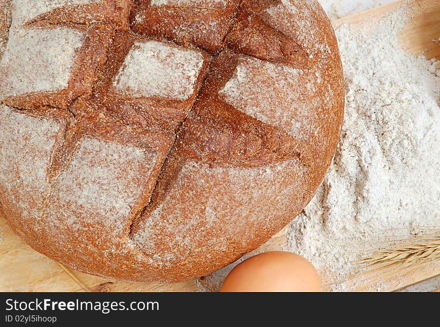
[[[317,84],[308,70],[244,57],[219,93],[249,116],[302,139],[316,130],[312,98]]]

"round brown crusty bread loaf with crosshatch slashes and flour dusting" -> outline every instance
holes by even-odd
[[[35,250],[178,281],[313,196],[344,106],[315,0],[0,3],[0,202]]]

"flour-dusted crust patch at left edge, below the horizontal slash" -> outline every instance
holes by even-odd
[[[20,214],[28,228],[40,219],[48,189],[47,170],[62,125],[0,105],[0,190],[3,206]],[[7,201],[7,202],[6,202]]]

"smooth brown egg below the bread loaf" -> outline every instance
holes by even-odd
[[[244,260],[226,276],[220,292],[320,292],[316,269],[290,252],[266,252]]]

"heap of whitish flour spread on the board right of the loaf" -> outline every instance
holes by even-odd
[[[346,94],[340,144],[288,241],[341,279],[374,242],[440,226],[440,62],[399,46],[406,10],[336,30]]]

